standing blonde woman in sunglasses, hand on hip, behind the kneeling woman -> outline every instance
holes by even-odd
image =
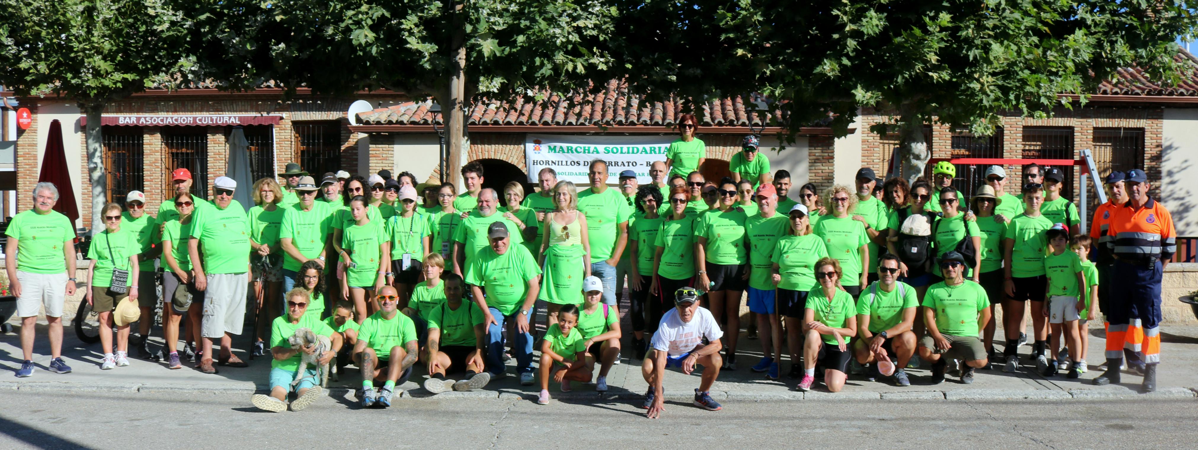
[[[824,211],[812,231],[824,239],[828,255],[840,261],[843,272],[841,284],[853,298],[861,294],[869,282],[870,235],[865,223],[853,220],[857,209],[857,194],[847,186],[836,184],[828,188],[824,195]]]

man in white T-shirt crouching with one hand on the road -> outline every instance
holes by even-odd
[[[720,358],[724,332],[715,323],[712,311],[698,305],[698,292],[694,287],[674,291],[674,305],[661,316],[651,342],[653,349],[641,364],[641,375],[649,383],[641,408],[649,411],[649,419],[657,419],[665,409],[661,379],[670,366],[682,367],[686,375],[695,371],[695,364],[703,366],[703,377],[698,389],[695,389],[695,406],[708,411],[721,409],[720,403],[712,399],[710,389],[724,364],[724,358]],[[704,338],[710,343],[703,345]]]

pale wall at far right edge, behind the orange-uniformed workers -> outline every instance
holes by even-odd
[[[1198,109],[1164,109],[1161,202],[1179,236],[1198,236]]]

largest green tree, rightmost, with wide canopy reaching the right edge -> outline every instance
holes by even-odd
[[[896,121],[902,174],[931,157],[924,123],[993,132],[1004,111],[1045,116],[1084,102],[1119,67],[1176,81],[1191,1],[615,0],[611,74],[689,98],[760,92],[780,124],[829,123],[858,108]],[[643,32],[636,34],[641,30]],[[1190,67],[1192,69],[1192,67]]]

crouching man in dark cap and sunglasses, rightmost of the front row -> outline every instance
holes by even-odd
[[[944,281],[932,285],[924,296],[927,335],[919,341],[919,357],[932,363],[932,384],[944,381],[951,359],[961,365],[961,383],[973,383],[974,369],[985,367],[986,347],[978,330],[990,322],[990,297],[981,285],[964,279],[966,259],[957,251],[940,256]]]

